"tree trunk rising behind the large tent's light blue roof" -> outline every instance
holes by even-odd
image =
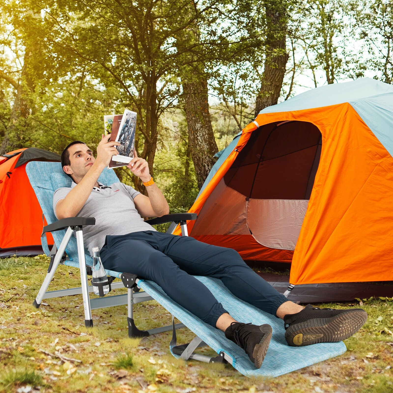
[[[285,45],[287,28],[285,5],[266,6],[266,22],[268,29],[266,59],[261,88],[255,102],[255,117],[263,108],[277,104],[289,58]]]

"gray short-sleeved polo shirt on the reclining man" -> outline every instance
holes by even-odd
[[[75,187],[59,188],[53,194],[53,211],[56,215],[56,204],[64,199]],[[138,231],[156,231],[150,224],[143,221],[134,204],[134,198],[140,194],[129,185],[114,183],[110,187],[99,183],[94,187],[77,217],[94,217],[95,225],[83,228],[84,246],[93,255],[92,248],[99,249],[105,243],[107,235],[126,235]],[[56,216],[57,217],[57,216]]]

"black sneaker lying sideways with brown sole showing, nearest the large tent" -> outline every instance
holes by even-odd
[[[308,304],[296,314],[286,314],[285,339],[292,347],[338,342],[355,334],[367,321],[362,309],[319,309]]]

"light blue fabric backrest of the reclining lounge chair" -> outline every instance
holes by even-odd
[[[58,188],[71,187],[72,180],[62,170],[60,162],[31,161],[26,165],[26,173],[38,202],[44,213],[46,222],[51,224],[57,221],[53,212],[53,194]],[[105,168],[98,178],[104,185],[111,185],[119,181],[113,169]],[[52,232],[56,246],[59,247],[66,231]],[[78,261],[78,249],[76,239],[71,238],[66,248],[67,255],[73,261]],[[92,264],[93,260],[85,249],[86,264]]]

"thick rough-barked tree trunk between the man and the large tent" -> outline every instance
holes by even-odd
[[[211,127],[208,82],[206,77],[194,72],[192,81],[184,79],[182,86],[188,140],[200,189],[215,163],[213,156],[218,152]]]

